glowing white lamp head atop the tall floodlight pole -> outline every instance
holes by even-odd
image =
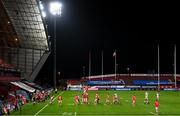
[[[59,2],[51,2],[50,3],[50,13],[52,15],[61,15],[62,4]]]

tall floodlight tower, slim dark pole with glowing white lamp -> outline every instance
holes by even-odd
[[[58,1],[50,3],[50,13],[54,16],[54,89],[56,89],[56,17],[61,16],[62,4]]]

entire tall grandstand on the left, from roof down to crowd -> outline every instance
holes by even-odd
[[[31,82],[51,53],[49,42],[39,0],[0,1],[0,115],[31,101],[33,93],[48,95]]]

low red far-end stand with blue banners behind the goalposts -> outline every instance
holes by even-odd
[[[157,74],[117,74],[116,77],[114,74],[98,75],[83,77],[79,82],[87,85],[89,90],[157,90],[158,87]],[[173,74],[160,75],[160,89],[179,90],[179,87],[174,87]]]

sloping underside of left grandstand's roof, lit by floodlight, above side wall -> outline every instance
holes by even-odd
[[[0,9],[0,46],[49,49],[38,0],[1,0]]]

